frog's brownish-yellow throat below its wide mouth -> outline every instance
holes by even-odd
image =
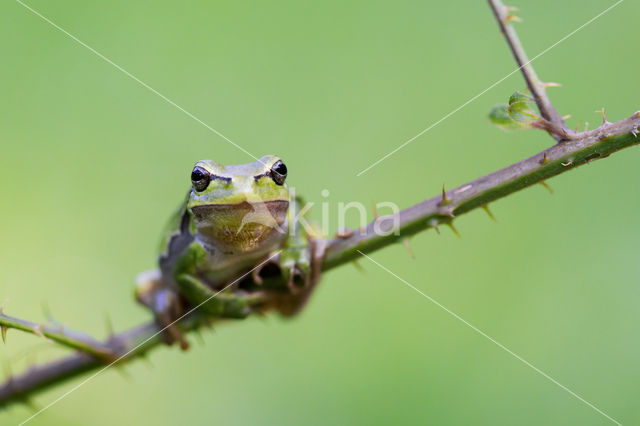
[[[191,213],[197,238],[206,246],[233,255],[271,249],[286,236],[289,202],[206,204],[193,206]]]

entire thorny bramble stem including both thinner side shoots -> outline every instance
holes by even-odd
[[[547,98],[544,85],[528,63],[515,31],[505,18],[508,9],[499,0],[489,0],[489,4],[498,18],[498,23],[518,64],[522,67],[522,73],[534,94],[543,118],[551,124],[547,129],[556,140],[559,140],[560,133],[554,129],[565,129],[564,122]],[[519,163],[400,211],[397,218],[400,224],[399,234],[384,235],[384,231],[390,230],[394,223],[392,216],[384,216],[376,218],[368,226],[348,237],[336,236],[328,241],[322,270],[326,272],[353,261],[360,256],[359,252],[370,253],[425,229],[437,229],[439,224],[451,223],[454,218],[478,207],[486,208],[490,202],[507,197],[520,189],[539,183],[544,184],[545,179],[637,145],[640,143],[637,137],[639,127],[640,111],[617,123],[605,122],[595,130],[572,133],[562,144],[556,144]],[[211,318],[205,317],[202,312],[194,312],[180,321],[178,326],[183,332],[188,332],[208,325],[211,321]],[[80,351],[58,361],[32,366],[25,373],[10,377],[0,385],[0,407],[14,402],[28,401],[28,398],[38,391],[89,371],[104,368],[105,362],[111,359],[122,357],[117,362],[119,365],[143,357],[151,349],[163,343],[161,336],[157,334],[159,328],[154,322],[114,334],[102,343],[80,333],[53,327],[40,327],[35,323],[8,317],[2,314],[1,309],[0,326],[35,334],[42,331],[42,334],[51,340]],[[105,357],[105,351],[107,357]]]

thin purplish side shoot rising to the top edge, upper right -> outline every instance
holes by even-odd
[[[489,6],[491,6],[491,10],[493,10],[493,14],[502,30],[502,34],[504,34],[511,48],[511,52],[520,66],[520,71],[527,82],[527,87],[529,87],[529,91],[531,91],[536,105],[538,105],[542,118],[550,124],[550,126],[548,126],[549,133],[558,142],[567,139],[566,133],[563,132],[563,130],[566,130],[564,120],[560,114],[558,114],[547,96],[545,84],[538,78],[533,65],[531,65],[531,61],[529,61],[524,51],[524,47],[522,47],[522,43],[520,43],[515,28],[511,24],[513,16],[510,12],[513,9],[505,6],[500,0],[489,0]]]

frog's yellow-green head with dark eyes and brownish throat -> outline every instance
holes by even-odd
[[[287,167],[274,155],[254,163],[196,163],[188,209],[198,238],[225,253],[276,245],[285,237]]]

